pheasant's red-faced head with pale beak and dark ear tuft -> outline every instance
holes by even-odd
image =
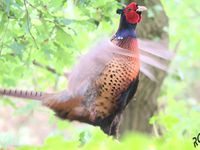
[[[137,24],[141,21],[142,11],[147,10],[144,6],[138,6],[135,2],[130,3],[124,9],[118,9],[118,14],[124,14],[126,21],[130,24]]]

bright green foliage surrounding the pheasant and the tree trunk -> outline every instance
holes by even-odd
[[[76,129],[66,121],[58,121],[50,112],[50,123],[56,122],[58,129],[42,146],[26,146],[20,138],[1,133],[0,147],[193,149],[192,137],[200,132],[200,80],[197,79],[200,76],[200,3],[162,0],[162,4],[169,17],[170,48],[177,47],[177,55],[158,100],[159,112],[149,121],[154,127],[154,136],[133,132],[118,142],[98,128]],[[0,85],[42,91],[65,88],[67,83],[62,73],[71,68],[93,41],[116,30],[119,17],[115,11],[119,6],[114,0],[0,0]],[[55,72],[34,65],[34,60],[54,68]],[[35,102],[21,108],[16,101],[4,99],[0,105],[13,107],[16,115],[40,110]],[[74,133],[66,137],[62,134],[66,129]]]

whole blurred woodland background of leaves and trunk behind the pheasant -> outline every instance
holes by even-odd
[[[0,87],[65,89],[65,73],[94,41],[116,32],[116,9],[130,2],[0,0]],[[124,113],[121,142],[99,128],[62,121],[38,102],[0,97],[0,148],[194,149],[192,138],[200,133],[200,1],[137,3],[148,8],[138,37],[175,57],[167,74],[156,70],[157,83],[141,76],[137,102]]]

